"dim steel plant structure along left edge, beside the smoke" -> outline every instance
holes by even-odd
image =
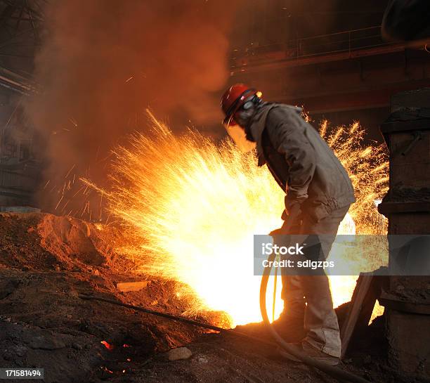
[[[43,0],[0,1],[1,205],[32,205],[41,171],[22,103],[37,91],[32,77],[45,5]]]

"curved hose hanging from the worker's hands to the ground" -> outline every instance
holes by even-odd
[[[261,316],[263,317],[263,322],[268,328],[269,332],[275,339],[276,343],[278,343],[282,349],[287,351],[287,353],[290,353],[292,356],[295,356],[296,358],[300,359],[302,362],[304,362],[306,365],[310,365],[312,367],[318,368],[318,370],[321,370],[328,375],[331,375],[335,379],[338,379],[339,382],[351,382],[351,383],[370,383],[368,380],[364,379],[363,377],[358,377],[357,375],[351,374],[351,372],[347,372],[344,370],[341,370],[340,368],[336,368],[332,365],[328,365],[327,363],[323,363],[320,361],[316,361],[314,358],[311,358],[310,356],[307,356],[306,354],[297,351],[294,349],[294,347],[290,346],[287,342],[285,342],[282,337],[276,332],[275,328],[271,325],[268,315],[267,315],[267,309],[266,309],[266,290],[267,290],[267,284],[268,284],[268,278],[271,273],[271,265],[273,264],[273,260],[275,259],[275,254],[271,254],[268,257],[268,267],[264,268],[263,276],[261,277],[261,285],[260,285],[260,310],[261,310]]]

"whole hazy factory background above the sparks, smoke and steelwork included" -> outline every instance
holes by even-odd
[[[0,0],[0,207],[67,214],[69,182],[103,186],[111,148],[148,129],[146,108],[220,140],[219,97],[235,82],[315,125],[359,120],[381,143],[390,97],[430,84],[424,46],[382,40],[386,4]]]

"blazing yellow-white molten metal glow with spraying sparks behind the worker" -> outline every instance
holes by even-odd
[[[252,236],[280,227],[282,190],[266,167],[256,166],[252,152],[242,154],[230,141],[216,145],[196,131],[175,136],[148,114],[152,134],[136,134],[115,151],[109,209],[124,223],[130,243],[138,244],[118,250],[138,261],[141,271],[188,285],[197,295],[195,312],[225,311],[232,324],[260,321]],[[325,122],[321,130],[358,197],[341,231],[384,231],[374,209],[386,190],[382,149],[363,148],[358,123],[327,134]],[[350,299],[355,281],[332,278],[335,306]],[[272,296],[268,291],[268,305]],[[275,316],[281,309],[278,297]]]

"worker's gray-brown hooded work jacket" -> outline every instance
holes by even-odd
[[[301,117],[301,108],[264,103],[247,130],[256,141],[259,166],[267,164],[287,193],[287,214],[299,203],[319,221],[355,202],[346,170],[318,131]]]

